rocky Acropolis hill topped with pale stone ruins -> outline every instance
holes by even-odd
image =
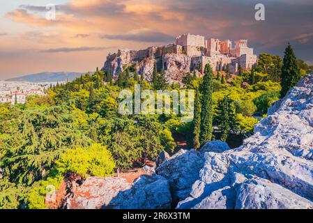
[[[139,75],[151,80],[155,62],[159,71],[164,70],[169,82],[181,82],[188,72],[203,74],[207,63],[214,71],[229,70],[235,74],[239,65],[249,70],[257,63],[257,55],[253,54],[253,48],[247,47],[247,40],[235,40],[233,47],[231,40],[206,40],[204,36],[188,33],[176,37],[169,45],[141,50],[119,49],[107,56],[102,70],[110,70],[113,77],[117,77],[128,66],[135,66]]]

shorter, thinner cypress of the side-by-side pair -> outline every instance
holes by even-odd
[[[201,104],[199,98],[199,92],[196,90],[194,95],[194,119],[192,123],[192,144],[193,148],[200,147],[200,125],[201,125]]]

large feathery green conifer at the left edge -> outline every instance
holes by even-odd
[[[77,116],[70,107],[31,108],[18,120],[17,128],[10,131],[15,140],[0,162],[15,183],[31,185],[43,179],[64,151],[91,143],[79,130]]]

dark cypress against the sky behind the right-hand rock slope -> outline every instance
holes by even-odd
[[[289,89],[298,84],[300,77],[300,68],[298,66],[296,55],[293,53],[293,49],[288,43],[288,46],[284,52],[281,75],[282,91],[280,92],[280,98],[284,98]]]

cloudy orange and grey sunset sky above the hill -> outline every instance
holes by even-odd
[[[265,20],[254,6],[263,3]],[[47,20],[48,4],[56,8]],[[0,0],[0,79],[36,72],[88,72],[117,49],[144,49],[192,33],[247,39],[256,54],[313,64],[312,0]]]

